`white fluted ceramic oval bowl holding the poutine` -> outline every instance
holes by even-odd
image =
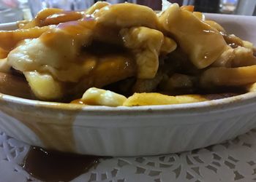
[[[256,43],[256,17],[207,15]],[[1,25],[0,25],[1,27]],[[34,146],[101,156],[187,151],[256,127],[256,93],[173,106],[48,103],[0,95],[0,130]]]

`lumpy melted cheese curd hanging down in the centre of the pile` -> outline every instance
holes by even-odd
[[[175,41],[165,38],[161,31],[151,28],[124,28],[120,33],[125,47],[135,54],[139,79],[154,78],[159,67],[160,52],[170,53],[177,46]]]

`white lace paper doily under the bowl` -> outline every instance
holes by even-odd
[[[20,164],[29,145],[0,132],[0,181],[38,181]],[[256,181],[256,130],[206,149],[157,157],[102,159],[78,181]]]

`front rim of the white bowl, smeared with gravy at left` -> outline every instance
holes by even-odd
[[[256,92],[246,92],[241,95],[236,95],[229,98],[221,98],[217,100],[206,100],[203,102],[197,103],[181,103],[173,105],[159,105],[159,106],[118,106],[118,107],[109,107],[109,106],[84,106],[76,103],[56,103],[40,100],[30,100],[26,98],[18,98],[12,95],[5,95],[0,93],[0,104],[15,104],[16,106],[24,107],[35,107],[35,108],[45,108],[52,111],[75,111],[89,113],[93,115],[100,114],[192,114],[200,112],[209,112],[209,111],[223,111],[233,110],[234,108],[241,108],[241,106],[249,106],[256,102]]]

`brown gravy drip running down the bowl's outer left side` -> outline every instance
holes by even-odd
[[[60,104],[61,105],[61,104]],[[19,122],[29,127],[42,141],[45,149],[58,151],[76,152],[75,138],[72,127],[75,117],[80,111],[56,111],[55,106],[50,108],[36,107],[13,107],[8,103],[1,102],[0,111],[12,116]],[[56,106],[60,108],[61,106]]]

